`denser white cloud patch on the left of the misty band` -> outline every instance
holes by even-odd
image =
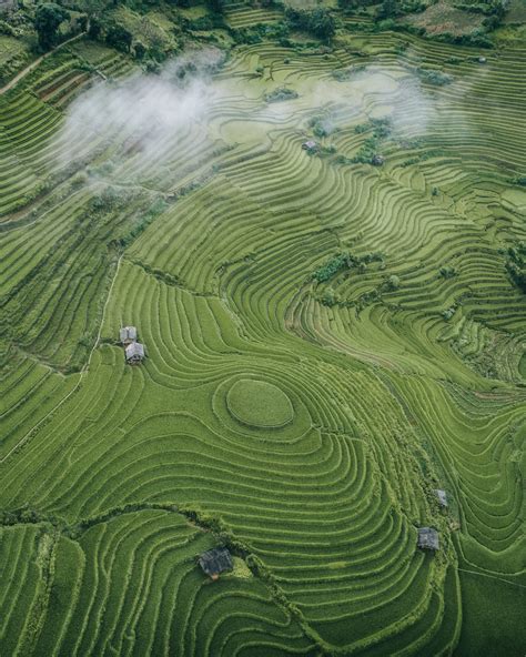
[[[63,163],[105,148],[117,159],[141,153],[162,160],[171,139],[205,115],[214,98],[210,75],[221,57],[212,49],[195,52],[170,62],[158,75],[101,82],[83,93],[70,107],[58,137]]]

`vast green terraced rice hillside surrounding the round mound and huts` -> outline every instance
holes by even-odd
[[[497,640],[508,655],[524,651],[517,594],[456,568],[459,559],[514,580],[522,568],[525,306],[502,249],[524,226],[502,199],[525,165],[526,60],[503,52],[481,69],[473,51],[406,40],[351,32],[327,57],[240,48],[219,77],[224,98],[208,135],[174,135],[160,170],[158,153],[97,153],[92,166],[128,190],[103,213],[90,205],[100,183],[79,185],[71,171],[49,189],[39,181],[57,173],[51,138],[63,107],[90,82],[78,58],[115,75],[130,63],[79,46],[2,99],[11,191],[1,249],[14,331],[3,345],[0,506],[39,512],[1,530],[4,651],[267,657],[312,654],[316,641],[418,655],[449,651],[458,636],[459,655]],[[332,77],[363,63],[373,67],[365,81]],[[421,107],[407,93],[416,65],[454,78],[424,82],[439,112],[419,140]],[[266,105],[264,93],[282,84],[300,98]],[[325,107],[343,98],[362,104]],[[401,134],[377,144],[384,168],[350,164],[372,132],[355,127],[404,98]],[[301,150],[313,115],[338,128],[323,143],[343,163]],[[80,135],[88,161],[91,146]],[[134,186],[144,181],[148,193]],[[107,245],[127,234],[130,210],[141,215],[192,181],[117,270]],[[341,249],[384,260],[314,285],[310,272]],[[396,290],[384,287],[390,275]],[[64,377],[85,362],[112,282],[109,344],[81,377]],[[328,286],[332,307],[320,303]],[[112,344],[122,322],[146,344],[140,368]],[[291,424],[265,432],[230,415],[229,390],[247,376],[283,390]],[[194,556],[215,538],[174,505],[219,519],[265,577],[208,585]],[[422,524],[441,529],[436,558],[415,550]]]

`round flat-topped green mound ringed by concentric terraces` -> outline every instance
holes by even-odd
[[[294,418],[291,400],[264,381],[236,381],[226,395],[226,405],[237,422],[261,428],[280,428]]]

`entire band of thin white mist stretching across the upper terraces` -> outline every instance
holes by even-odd
[[[189,160],[205,159],[218,139],[223,145],[270,145],[269,134],[275,130],[308,133],[315,121],[316,129],[328,135],[382,118],[388,119],[393,137],[419,138],[447,127],[451,99],[468,89],[464,80],[459,85],[459,80],[441,71],[406,62],[390,69],[372,63],[335,69],[332,74],[327,68],[315,81],[290,75],[284,85],[297,98],[265,102],[265,93],[283,81],[261,80],[249,70],[227,82],[213,81],[222,57],[215,49],[195,51],[169,62],[160,74],[101,81],[81,94],[58,137],[54,151],[61,153],[61,164],[85,163],[91,175],[105,179],[112,171],[113,180],[125,182],[162,179],[168,189],[188,175]],[[461,123],[463,114],[457,111],[455,128]]]

